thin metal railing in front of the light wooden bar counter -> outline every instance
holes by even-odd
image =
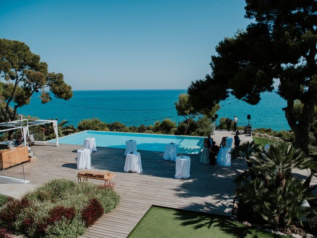
[[[16,164],[8,161],[0,161],[0,176],[22,179],[25,181],[23,164]]]

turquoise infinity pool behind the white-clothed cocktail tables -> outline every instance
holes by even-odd
[[[178,153],[199,154],[203,146],[204,137],[199,136],[178,136],[178,135],[159,135],[125,132],[108,132],[85,130],[59,138],[59,143],[83,145],[84,139],[95,137],[96,145],[102,147],[125,149],[126,140],[136,140],[138,150],[150,150],[164,152],[167,143],[177,143]],[[55,139],[48,142],[55,142]]]

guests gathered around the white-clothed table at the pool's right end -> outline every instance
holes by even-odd
[[[237,148],[240,145],[239,131],[236,131],[234,136],[234,146]],[[204,149],[200,155],[200,162],[203,164],[216,164],[216,156],[220,148],[227,147],[226,137],[222,137],[219,146],[216,145],[216,142],[213,141],[211,135],[208,135],[208,138],[204,139]]]

